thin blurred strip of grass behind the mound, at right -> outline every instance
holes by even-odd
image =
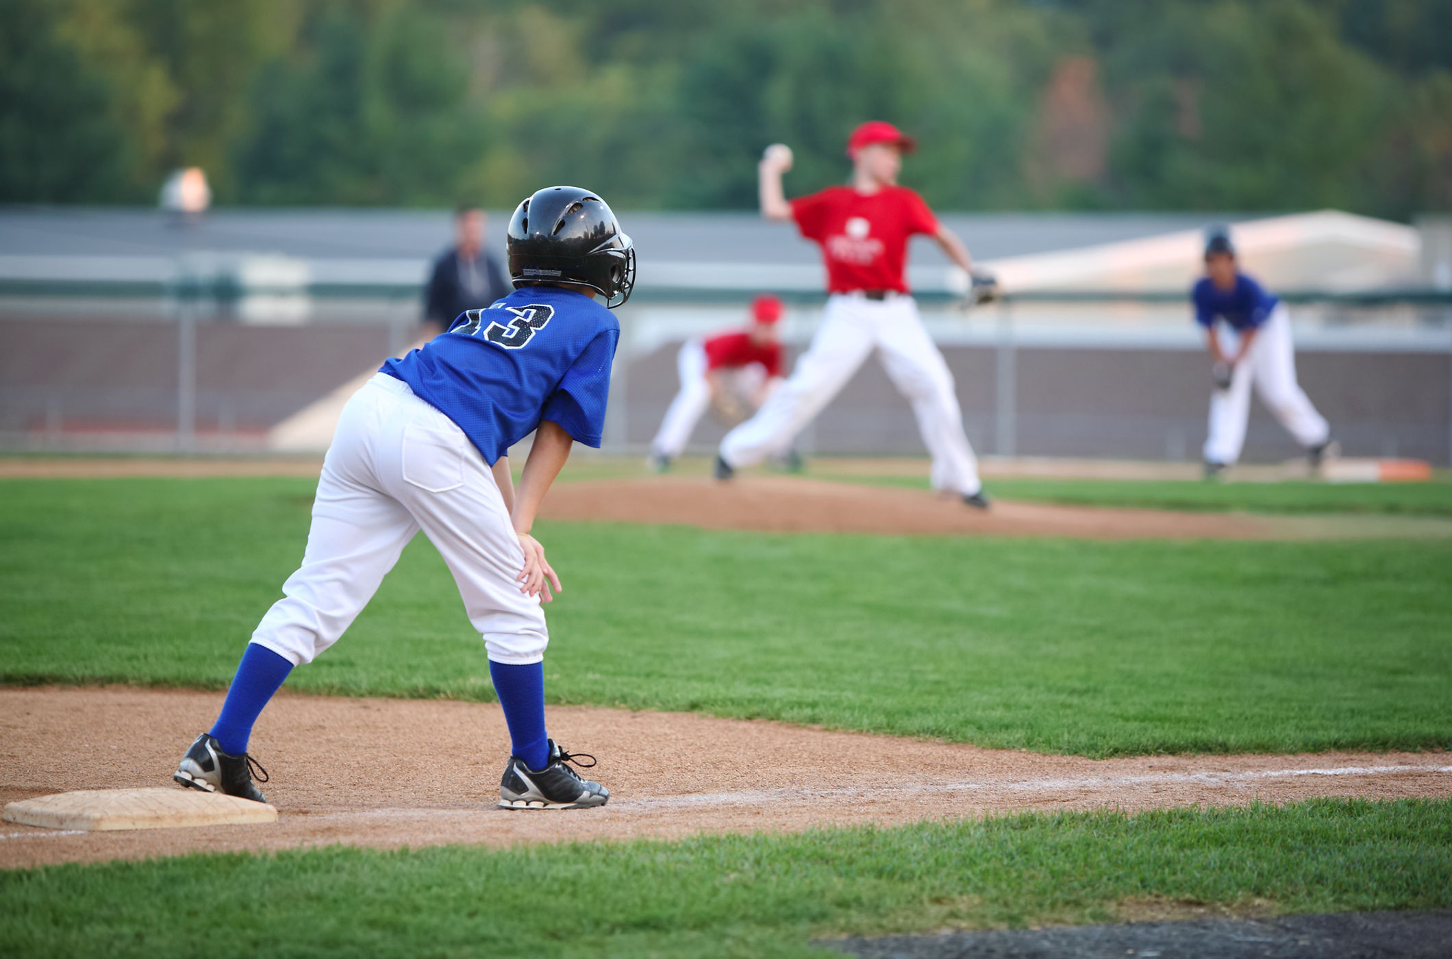
[[[921,477],[823,474],[884,487],[926,490]],[[1025,503],[1119,506],[1151,510],[1246,513],[1392,513],[1452,516],[1452,482],[1205,482],[1202,480],[1037,480],[996,478],[984,487],[995,497]]]

